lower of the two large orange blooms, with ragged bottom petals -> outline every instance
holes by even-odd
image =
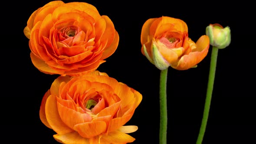
[[[138,127],[123,125],[141,99],[139,92],[106,73],[59,76],[44,95],[39,114],[61,143],[126,144],[135,138],[125,133]]]

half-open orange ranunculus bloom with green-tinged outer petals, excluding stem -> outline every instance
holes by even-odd
[[[188,37],[187,24],[168,16],[147,20],[141,30],[141,52],[158,69],[186,70],[196,66],[207,55],[209,37],[196,43]]]

